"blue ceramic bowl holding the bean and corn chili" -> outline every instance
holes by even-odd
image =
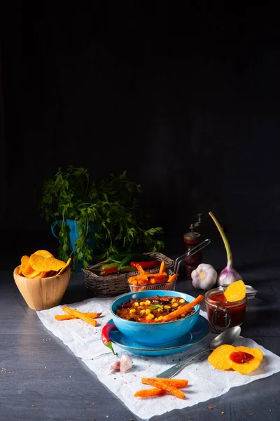
[[[111,305],[111,316],[118,330],[120,330],[123,335],[144,345],[158,345],[167,344],[168,342],[181,338],[182,335],[186,335],[186,333],[193,328],[200,315],[199,304],[195,306],[195,313],[190,316],[180,320],[167,321],[165,323],[139,323],[121,319],[116,316],[116,309],[118,309],[123,302],[129,302],[130,299],[150,298],[155,295],[167,295],[169,297],[179,296],[186,300],[186,302],[195,300],[195,297],[192,297],[192,295],[166,290],[150,290],[120,295],[120,297]]]

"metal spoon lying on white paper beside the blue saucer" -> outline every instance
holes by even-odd
[[[196,352],[195,354],[191,355],[188,359],[180,361],[180,363],[176,364],[171,368],[168,368],[168,370],[165,370],[163,373],[158,374],[156,377],[165,377],[166,379],[171,379],[172,377],[174,377],[174,375],[178,374],[181,370],[183,370],[183,368],[196,356],[200,356],[207,351],[213,351],[215,348],[220,347],[220,345],[232,345],[239,337],[240,332],[240,326],[234,326],[225,330],[224,332],[220,333],[220,335],[216,336],[216,338],[211,340],[209,348],[203,349],[200,352]]]

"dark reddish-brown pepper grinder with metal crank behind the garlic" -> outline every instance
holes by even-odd
[[[201,234],[199,232],[195,232],[194,229],[195,227],[200,227],[200,225],[202,224],[202,220],[201,220],[202,213],[199,213],[197,216],[198,216],[198,221],[195,222],[195,224],[190,224],[190,232],[186,232],[186,234],[183,235],[183,240],[185,241],[187,245],[186,253],[192,250],[192,248],[194,248],[197,245],[197,243],[200,242]],[[185,259],[186,279],[188,279],[188,281],[192,280],[191,273],[193,272],[194,269],[197,268],[198,265],[200,265],[201,262],[202,262],[201,250],[195,253],[190,258]]]

